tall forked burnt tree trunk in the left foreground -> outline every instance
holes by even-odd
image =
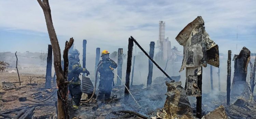
[[[57,77],[58,90],[58,119],[69,118],[69,102],[68,102],[68,82],[67,82],[67,71],[68,71],[68,50],[72,46],[74,39],[70,38],[69,42],[66,41],[65,50],[63,52],[64,59],[64,72],[61,68],[61,54],[59,48],[59,42],[53,27],[51,9],[48,0],[37,0],[39,5],[43,9],[46,26],[53,47],[54,56],[54,69]]]

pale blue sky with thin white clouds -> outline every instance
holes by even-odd
[[[256,52],[255,0],[50,0],[49,4],[61,50],[70,37],[79,50],[87,39],[91,54],[97,47],[126,50],[129,36],[148,50],[150,41],[158,40],[158,23],[163,20],[172,47],[182,51],[176,35],[202,16],[220,52],[231,49],[238,54],[243,46]],[[0,52],[47,51],[47,44],[50,40],[37,0],[0,0]]]

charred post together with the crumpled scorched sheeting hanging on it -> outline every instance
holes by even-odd
[[[204,21],[198,16],[175,38],[184,46],[184,57],[179,72],[186,68],[185,90],[188,96],[197,97],[197,118],[202,117],[202,67],[207,67],[207,64],[219,67],[218,45],[210,39],[203,26]]]

